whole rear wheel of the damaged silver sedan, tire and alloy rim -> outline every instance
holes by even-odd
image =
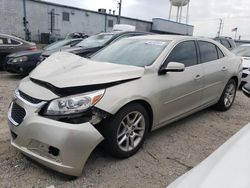
[[[236,82],[233,79],[229,80],[225,89],[223,90],[220,100],[214,106],[214,108],[222,112],[229,110],[234,103],[236,90]]]

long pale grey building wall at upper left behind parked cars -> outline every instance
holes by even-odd
[[[52,35],[55,38],[64,38],[70,32],[84,32],[93,35],[111,31],[113,27],[108,24],[109,20],[113,20],[113,24],[117,23],[117,16],[110,14],[44,3],[38,0],[26,0],[28,28],[32,40],[38,41],[41,33],[51,31],[50,12],[52,9],[55,13]],[[69,13],[69,21],[63,21],[63,12]],[[23,1],[0,0],[0,23],[0,33],[14,34],[24,38]],[[139,31],[150,31],[152,25],[151,22],[123,17],[121,23],[134,25]]]

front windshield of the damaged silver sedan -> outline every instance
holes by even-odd
[[[91,57],[92,60],[132,66],[154,63],[170,41],[152,39],[123,39]]]

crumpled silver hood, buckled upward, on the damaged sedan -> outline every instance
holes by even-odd
[[[68,52],[57,52],[31,72],[30,78],[68,88],[136,79],[143,73],[143,67],[96,62]]]

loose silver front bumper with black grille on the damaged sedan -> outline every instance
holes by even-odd
[[[38,111],[39,105],[13,100],[8,113],[12,146],[51,169],[80,176],[103,136],[89,122],[59,122],[38,115]]]

